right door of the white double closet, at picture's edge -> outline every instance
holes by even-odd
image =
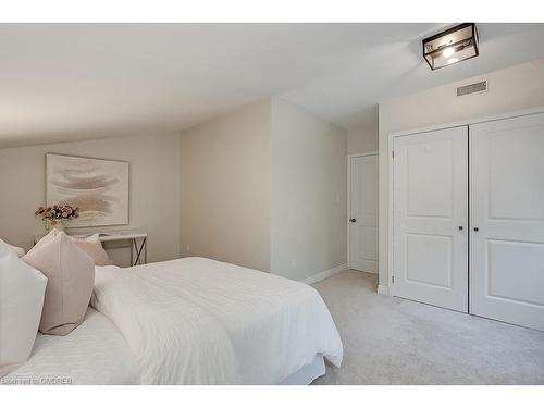
[[[544,330],[544,114],[470,126],[470,312]]]

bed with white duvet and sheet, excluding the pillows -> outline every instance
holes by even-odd
[[[85,322],[39,335],[10,378],[77,384],[309,384],[343,346],[311,286],[206,258],[96,267]]]

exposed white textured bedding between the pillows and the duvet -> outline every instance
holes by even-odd
[[[29,360],[3,384],[139,384],[140,371],[122,334],[92,308],[65,336],[38,333]]]

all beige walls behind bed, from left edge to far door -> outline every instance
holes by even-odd
[[[0,237],[26,249],[45,232],[47,152],[131,162],[131,224],[72,233],[137,228],[149,261],[203,256],[296,280],[346,262],[347,132],[281,100],[181,135],[0,149]]]

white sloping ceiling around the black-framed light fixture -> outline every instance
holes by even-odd
[[[181,131],[274,95],[348,127],[544,57],[544,24],[480,24],[481,55],[432,72],[421,39],[445,26],[0,24],[0,147]]]

